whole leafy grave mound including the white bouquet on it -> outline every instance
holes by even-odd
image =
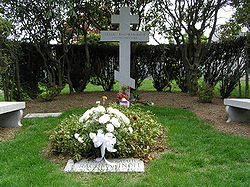
[[[50,142],[54,153],[67,155],[75,161],[104,158],[101,148],[104,144],[108,159],[144,160],[152,152],[164,151],[165,134],[166,130],[149,111],[113,104],[93,107],[83,116],[69,116],[54,129]],[[102,137],[108,141],[103,143]]]

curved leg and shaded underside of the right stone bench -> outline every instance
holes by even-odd
[[[226,112],[229,117],[227,123],[229,122],[250,122],[250,110],[226,106]]]

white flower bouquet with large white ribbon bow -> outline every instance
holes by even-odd
[[[114,149],[116,144],[116,134],[119,131],[131,134],[133,128],[129,126],[130,120],[118,109],[103,106],[93,107],[87,110],[79,119],[85,127],[90,127],[92,131],[89,132],[89,138],[93,141],[95,148],[100,147],[101,158],[97,161],[105,160],[105,151],[116,152]],[[80,142],[84,143],[81,134],[75,133],[74,137]]]

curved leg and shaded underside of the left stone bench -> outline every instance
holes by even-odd
[[[14,112],[8,112],[0,115],[0,127],[17,128],[21,127],[21,119],[23,116],[23,110],[17,110]]]

